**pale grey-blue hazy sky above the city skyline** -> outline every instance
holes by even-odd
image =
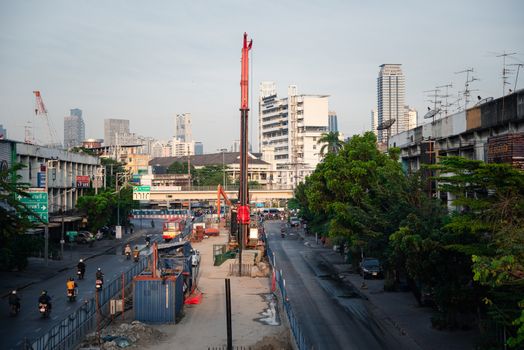
[[[243,33],[251,51],[250,142],[257,148],[258,86],[275,81],[285,97],[329,95],[346,136],[370,130],[379,65],[400,63],[406,104],[431,105],[424,91],[465,83],[474,96],[502,95],[501,53],[524,63],[524,1],[75,1],[0,0],[0,124],[8,138],[48,134],[34,116],[40,90],[63,139],[63,118],[80,108],[86,138],[103,138],[104,119],[131,132],[171,139],[179,113],[193,116],[205,153],[240,138]],[[516,66],[508,77],[514,88]],[[524,88],[524,69],[517,89]],[[422,121],[422,120],[419,120]]]

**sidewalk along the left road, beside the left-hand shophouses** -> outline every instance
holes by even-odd
[[[30,257],[28,258],[28,266],[23,271],[0,271],[0,298],[5,298],[13,289],[22,290],[30,285],[56,276],[63,271],[75,269],[78,260],[84,259],[84,261],[89,261],[117,246],[123,245],[127,241],[135,239],[146,231],[147,229],[135,230],[133,234],[127,234],[120,240],[103,239],[96,241],[93,247],[89,247],[87,244],[79,245],[76,243],[70,247],[66,244],[64,245],[64,259],[49,259],[47,266],[43,258]]]

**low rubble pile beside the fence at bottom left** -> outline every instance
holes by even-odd
[[[100,332],[100,343],[96,333],[88,334],[81,345],[82,348],[117,350],[122,348],[141,348],[156,343],[163,337],[163,333],[148,325],[133,321],[104,328]]]

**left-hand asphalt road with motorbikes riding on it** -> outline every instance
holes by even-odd
[[[149,222],[147,221],[147,224]],[[152,235],[152,241],[161,240],[161,222],[162,220],[156,220],[155,228],[147,230],[147,233]],[[143,236],[135,237],[131,241],[133,247],[135,245],[143,247],[144,243]],[[95,272],[98,267],[105,275],[105,284],[115,278],[120,278],[121,273],[129,270],[134,264],[133,260],[126,260],[125,256],[121,255],[121,247],[122,245],[119,245],[116,249],[86,261],[84,280],[77,280],[79,294],[75,302],[67,299],[66,281],[69,277],[76,279],[76,269],[62,271],[48,280],[30,285],[20,291],[22,299],[20,313],[16,317],[9,317],[7,312],[0,313],[0,348],[19,349],[24,339],[39,338],[52,326],[79,308],[83,300],[92,298],[95,293]],[[42,290],[47,290],[52,298],[53,308],[49,319],[42,319],[38,312],[38,296]]]

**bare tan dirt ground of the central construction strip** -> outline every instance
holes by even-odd
[[[222,266],[213,266],[213,244],[226,240],[227,235],[221,231],[219,237],[192,244],[201,254],[198,289],[202,292],[202,300],[200,304],[185,305],[184,317],[179,323],[153,326],[163,333],[163,337],[143,349],[200,350],[226,346],[226,278],[231,280],[233,346],[251,350],[291,349],[289,330],[280,320],[282,315],[275,314],[271,307],[274,303],[268,301],[271,299],[269,279],[228,276],[231,260]]]

